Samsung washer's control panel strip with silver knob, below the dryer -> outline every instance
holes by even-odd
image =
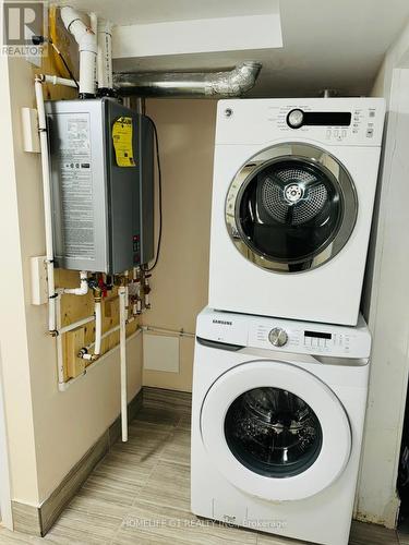
[[[365,359],[371,352],[371,335],[362,316],[356,327],[347,327],[205,308],[197,316],[196,335],[233,347],[298,354]]]

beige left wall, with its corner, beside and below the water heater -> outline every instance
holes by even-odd
[[[5,143],[1,153],[7,154],[8,170],[0,201],[7,233],[3,286],[12,289],[4,289],[2,299],[8,308],[7,316],[2,313],[2,378],[12,498],[39,505],[118,416],[119,354],[101,361],[65,392],[58,391],[56,343],[46,334],[47,308],[33,306],[29,292],[29,257],[45,253],[39,156],[22,150],[20,121],[21,107],[34,107],[33,73],[21,59],[10,59],[9,71],[10,96],[1,89]],[[141,336],[129,343],[128,355],[131,398],[142,383]]]

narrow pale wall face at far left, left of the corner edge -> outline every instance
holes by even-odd
[[[4,392],[11,486],[13,491],[17,491],[20,497],[35,501],[37,498],[37,469],[14,143],[11,138],[13,119],[10,106],[9,64],[5,57],[0,57],[0,232],[1,283],[4,287],[0,311],[1,379]],[[10,288],[5,289],[5,286]]]

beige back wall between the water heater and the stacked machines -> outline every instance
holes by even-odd
[[[158,130],[163,170],[163,244],[144,324],[195,330],[207,303],[215,100],[156,99],[147,114]],[[144,371],[148,386],[190,391],[192,338],[180,342],[180,373]]]

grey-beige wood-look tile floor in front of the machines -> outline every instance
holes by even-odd
[[[200,521],[189,510],[190,403],[148,390],[130,426],[45,538],[0,530],[0,544],[291,545],[301,542]],[[151,522],[149,521],[154,521]],[[350,545],[409,545],[396,532],[353,523]]]

